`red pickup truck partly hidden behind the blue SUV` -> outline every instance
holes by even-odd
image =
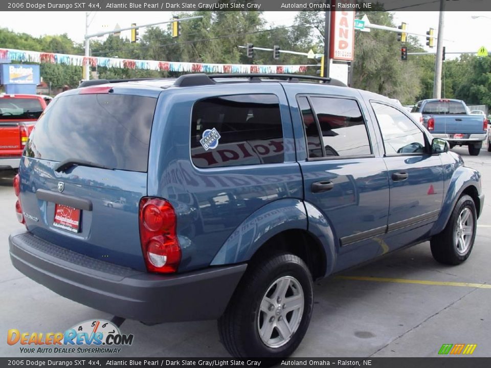
[[[19,167],[29,134],[45,108],[42,96],[0,94],[0,170]]]

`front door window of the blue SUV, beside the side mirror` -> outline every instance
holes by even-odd
[[[388,105],[372,103],[372,107],[382,132],[386,154],[425,152],[425,135],[411,119]]]

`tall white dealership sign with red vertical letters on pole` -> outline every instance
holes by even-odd
[[[354,0],[336,0],[343,8],[352,8]],[[352,61],[354,57],[354,11],[331,11],[330,58]]]

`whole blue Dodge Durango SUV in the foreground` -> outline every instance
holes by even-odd
[[[29,138],[10,236],[14,266],[71,300],[218,319],[230,354],[283,357],[313,280],[427,240],[441,263],[471,253],[480,173],[385,97],[291,75],[84,83]]]

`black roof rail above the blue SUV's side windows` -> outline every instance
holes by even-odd
[[[298,82],[300,79],[321,81],[325,84],[347,87],[337,79],[298,74],[268,74],[268,73],[234,73],[234,74],[185,74],[174,82],[176,87],[199,86],[215,84],[215,78],[248,78],[249,82],[261,82],[261,78],[280,79],[287,82]]]

